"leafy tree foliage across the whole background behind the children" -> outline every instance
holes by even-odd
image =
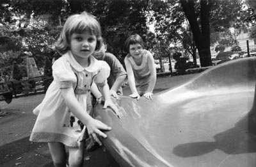
[[[182,2],[189,5],[194,20],[189,21],[186,17]],[[24,51],[33,53],[38,68],[44,67],[45,59],[51,61],[60,57],[51,46],[68,15],[84,10],[99,19],[108,51],[120,59],[126,54],[122,52],[126,38],[134,33],[142,36],[147,49],[156,56],[160,49],[164,57],[180,51],[195,58],[196,47],[200,51],[209,48],[209,33],[219,36],[214,35],[218,38],[211,42],[236,45],[234,36],[228,34],[227,29],[231,26],[244,28],[253,25],[253,20],[255,22],[253,10],[243,8],[241,0],[5,0],[0,2],[2,74],[12,72],[13,61],[20,67],[24,65]],[[208,29],[205,29],[205,16],[209,16]],[[149,31],[148,21],[154,24],[155,32]],[[202,52],[199,53],[204,57]],[[211,56],[211,53],[205,55]]]

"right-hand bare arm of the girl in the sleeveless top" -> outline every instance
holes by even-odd
[[[156,65],[154,63],[153,55],[150,52],[148,52],[148,54],[148,68],[150,71],[150,81],[148,83],[148,90],[146,93],[144,93],[143,96],[147,99],[152,99],[154,86],[156,84]]]

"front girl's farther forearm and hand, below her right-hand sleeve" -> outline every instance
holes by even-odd
[[[111,100],[110,94],[109,94],[109,86],[108,84],[104,84],[104,86],[99,86],[100,92],[103,95],[103,98],[105,99],[103,108],[111,107],[113,109],[114,113],[116,113],[116,116],[120,118],[120,113],[118,111],[118,108]]]

